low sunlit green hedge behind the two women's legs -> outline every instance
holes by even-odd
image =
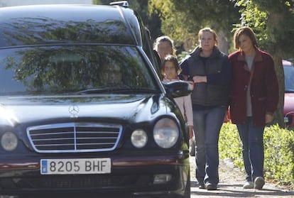
[[[263,135],[266,180],[294,189],[294,131],[266,127]],[[219,136],[219,158],[229,158],[244,171],[241,141],[236,126],[224,123]]]

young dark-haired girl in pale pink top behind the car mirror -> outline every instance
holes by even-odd
[[[165,56],[161,68],[164,76],[163,82],[180,80],[178,76],[180,73],[180,66],[178,64],[177,57],[175,57],[174,55]],[[190,95],[186,97],[178,97],[175,98],[175,102],[178,104],[183,117],[187,121],[187,124],[189,126],[189,138],[191,139],[193,136],[193,114],[191,97]]]

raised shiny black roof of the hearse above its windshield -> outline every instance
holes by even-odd
[[[50,43],[142,45],[133,10],[106,5],[33,5],[0,8],[0,48]]]

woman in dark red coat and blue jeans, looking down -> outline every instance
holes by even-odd
[[[241,27],[234,33],[236,52],[232,64],[230,114],[242,142],[246,170],[244,188],[261,189],[263,176],[263,131],[278,106],[278,80],[273,58],[258,48],[254,31]]]

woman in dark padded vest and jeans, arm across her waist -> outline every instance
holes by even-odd
[[[194,85],[192,91],[195,131],[196,178],[200,188],[217,189],[219,182],[219,131],[228,106],[232,68],[217,48],[217,34],[210,28],[198,33],[198,46],[180,64],[181,75]]]

